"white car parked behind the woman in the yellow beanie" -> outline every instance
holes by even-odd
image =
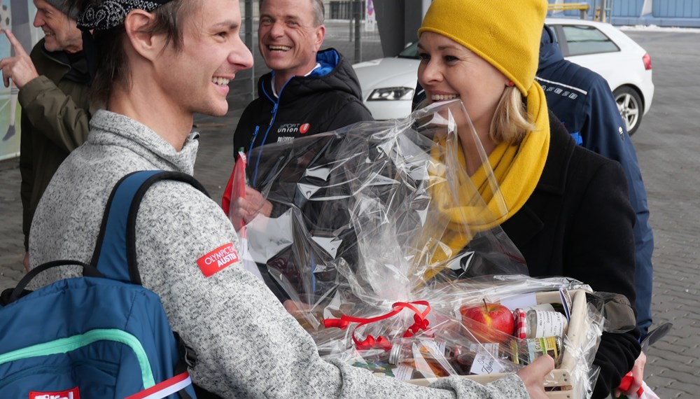
[[[546,23],[566,59],[608,80],[627,131],[636,132],[654,97],[650,55],[610,24],[565,18],[547,18]],[[396,57],[353,65],[363,101],[374,118],[403,118],[411,112],[419,62],[417,43],[413,43]]]

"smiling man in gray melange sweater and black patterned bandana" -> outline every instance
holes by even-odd
[[[107,197],[125,174],[192,174],[193,114],[223,116],[229,81],[252,64],[239,38],[237,0],[73,1],[85,8],[79,26],[94,34],[93,87],[106,109],[94,114],[87,142],[38,205],[32,266],[89,262]],[[121,25],[122,34],[113,29]],[[307,332],[242,267],[238,238],[218,204],[187,184],[163,181],[148,190],[136,233],[143,285],[160,295],[173,330],[197,352],[193,381],[224,398],[545,398],[548,356],[488,385],[453,377],[431,388],[322,360]],[[43,283],[77,271],[47,274]]]

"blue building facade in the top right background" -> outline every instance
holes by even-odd
[[[549,0],[549,3],[588,3],[589,19],[598,14],[598,20],[597,10],[605,3],[607,22],[612,25],[700,28],[700,0]],[[577,10],[550,12],[550,16],[562,15],[578,18],[580,13]]]

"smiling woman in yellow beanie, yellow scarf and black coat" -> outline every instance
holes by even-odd
[[[546,10],[546,0],[434,0],[419,29],[418,80],[428,103],[463,102],[505,200],[497,222],[530,275],[570,276],[633,304],[634,213],[622,167],[576,146],[535,83]],[[481,187],[478,150],[465,145],[470,126],[456,122],[463,166]],[[442,241],[458,253],[468,244],[459,237],[448,229]],[[593,398],[631,370],[638,337],[603,333]]]

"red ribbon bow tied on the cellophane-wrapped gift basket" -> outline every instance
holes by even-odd
[[[423,305],[426,307],[426,309],[424,309],[423,311],[419,311],[414,306],[414,304]],[[396,302],[395,304],[392,304],[391,307],[393,309],[392,311],[386,314],[382,314],[381,316],[375,316],[370,318],[354,317],[348,316],[346,314],[340,316],[340,318],[324,318],[323,325],[325,325],[325,328],[336,327],[340,328],[341,330],[344,330],[348,327],[348,325],[350,325],[350,323],[358,323],[358,325],[352,332],[352,339],[353,342],[355,342],[355,346],[357,347],[357,349],[360,350],[380,348],[384,349],[385,351],[388,351],[389,349],[391,349],[391,342],[389,342],[388,339],[381,336],[377,339],[374,339],[372,335],[367,335],[365,339],[360,341],[355,337],[355,331],[365,324],[374,323],[375,321],[381,321],[386,318],[393,317],[399,314],[403,309],[410,309],[415,312],[413,316],[415,323],[413,323],[409,328],[407,328],[406,332],[403,335],[404,337],[412,337],[413,335],[417,334],[420,330],[428,330],[428,325],[430,324],[426,319],[426,316],[428,316],[428,313],[430,313],[430,304],[428,303],[428,301],[419,300],[414,302]]]

